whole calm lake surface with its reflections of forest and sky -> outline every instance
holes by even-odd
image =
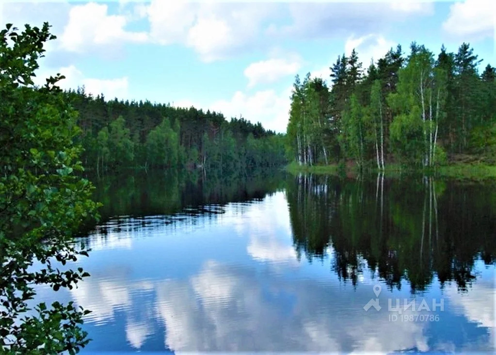
[[[59,299],[92,352],[493,352],[496,185],[433,178],[105,178]],[[39,296],[49,299],[47,288]]]

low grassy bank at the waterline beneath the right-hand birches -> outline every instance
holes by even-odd
[[[341,176],[356,176],[358,169],[355,167],[345,168],[343,165],[313,165],[305,166],[298,165],[292,162],[287,165],[285,170],[291,174],[311,173],[311,174],[327,174],[327,175],[341,175]],[[368,169],[366,174],[377,174],[377,169]],[[419,169],[405,169],[397,164],[386,165],[384,174],[386,177],[399,177],[401,175],[416,175],[427,174],[444,178],[456,178],[466,180],[496,180],[496,166],[482,163],[451,163],[446,166],[437,168],[436,170],[419,170]]]

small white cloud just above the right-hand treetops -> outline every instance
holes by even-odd
[[[381,35],[370,34],[359,38],[352,36],[347,39],[344,52],[346,56],[349,56],[355,49],[363,68],[367,69],[372,59],[377,62],[393,46],[395,46],[393,41],[389,41]]]

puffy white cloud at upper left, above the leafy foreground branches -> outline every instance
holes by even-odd
[[[124,42],[146,42],[145,32],[128,32],[123,15],[109,15],[108,6],[89,2],[73,6],[60,36],[60,46],[68,52],[86,53],[95,47],[109,50]]]

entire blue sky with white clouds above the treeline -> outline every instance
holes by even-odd
[[[58,39],[38,72],[61,72],[107,99],[220,111],[286,130],[296,74],[328,79],[338,55],[364,67],[399,43],[435,55],[470,42],[496,65],[494,0],[463,1],[5,1],[0,23],[49,21]]]

